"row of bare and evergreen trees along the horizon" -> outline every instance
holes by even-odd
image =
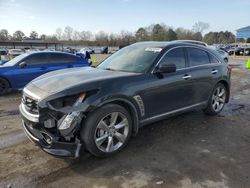
[[[67,26],[64,29],[57,28],[52,35],[39,35],[32,31],[26,36],[22,31],[15,31],[12,35],[7,29],[0,30],[0,41],[43,40],[47,42],[63,42],[66,44],[84,44],[94,46],[125,46],[137,41],[172,41],[172,40],[197,40],[208,44],[228,44],[235,41],[235,35],[229,31],[209,32],[203,35],[209,28],[209,24],[197,22],[192,29],[172,28],[163,23],[140,27],[135,32],[122,30],[120,33],[107,33],[99,31],[93,34],[91,31],[77,31]]]

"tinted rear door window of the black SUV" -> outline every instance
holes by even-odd
[[[187,48],[190,66],[206,65],[210,63],[208,53],[198,48]]]

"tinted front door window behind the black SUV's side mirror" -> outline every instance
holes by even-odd
[[[161,60],[160,63],[175,64],[176,69],[186,67],[185,53],[183,48],[170,50]]]

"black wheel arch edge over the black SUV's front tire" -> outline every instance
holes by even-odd
[[[98,107],[101,107],[103,105],[106,104],[118,104],[122,107],[124,107],[129,114],[132,117],[132,122],[133,122],[133,136],[136,136],[136,134],[139,131],[139,116],[138,116],[138,111],[135,107],[135,105],[129,101],[128,99],[124,99],[124,98],[113,98],[113,99],[108,99],[104,102],[102,102],[101,104],[98,105]]]

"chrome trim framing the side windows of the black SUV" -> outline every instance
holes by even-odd
[[[202,67],[202,66],[208,66],[208,65],[216,65],[216,64],[221,64],[221,61],[214,55],[212,54],[211,52],[209,52],[209,50],[207,49],[203,49],[203,48],[200,48],[199,46],[188,46],[188,45],[184,45],[184,46],[176,46],[176,47],[173,47],[169,50],[167,50],[162,56],[161,58],[159,59],[159,61],[156,63],[155,67],[153,68],[153,70],[151,71],[151,74],[153,74],[155,72],[155,69],[156,67],[158,67],[158,65],[160,64],[161,60],[165,57],[165,55],[167,55],[167,53],[169,53],[171,50],[174,50],[174,49],[177,49],[177,48],[198,48],[200,50],[203,50],[203,51],[206,51],[207,53],[209,53],[209,55],[212,55],[215,59],[218,60],[219,63],[209,63],[209,64],[203,64],[203,65],[196,65],[196,66],[191,66],[191,67],[185,67],[185,68],[181,68],[181,69],[176,69],[176,71],[179,71],[179,70],[185,70],[185,69],[190,69],[190,68],[194,68],[194,67]],[[185,58],[186,59],[186,58]]]

